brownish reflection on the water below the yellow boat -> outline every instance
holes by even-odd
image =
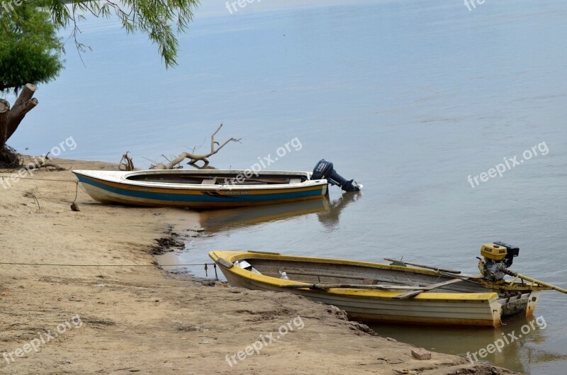
[[[370,326],[384,337],[393,337],[436,352],[457,354],[465,358],[469,355],[474,359],[476,355],[481,361],[529,375],[534,365],[567,360],[566,354],[554,352],[549,343],[544,345],[549,340],[549,330],[553,328],[542,319],[521,318],[495,329],[381,324]],[[496,346],[501,349],[496,349]],[[481,349],[490,349],[493,353],[480,352]]]

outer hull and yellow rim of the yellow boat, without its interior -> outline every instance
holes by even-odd
[[[214,254],[213,254],[214,253]],[[213,252],[210,257],[218,259],[222,257],[228,262],[236,259],[252,259],[254,257],[266,257],[265,254],[247,254],[237,252]],[[267,255],[267,257],[283,257]],[[297,259],[305,262],[303,257],[283,257],[286,259]],[[273,259],[273,258],[272,258]],[[311,258],[314,259],[314,258]],[[330,259],[318,259],[318,262]],[[252,263],[252,261],[250,261]],[[349,262],[338,261],[335,262]],[[350,262],[352,265],[364,263]],[[477,291],[474,293],[447,293],[424,292],[418,296],[406,299],[395,299],[400,291],[376,291],[368,289],[328,289],[319,291],[313,289],[286,289],[284,284],[294,284],[296,281],[281,280],[274,277],[254,274],[240,267],[225,267],[219,264],[220,269],[232,286],[262,291],[279,291],[295,293],[312,301],[337,306],[345,310],[350,318],[367,322],[403,323],[422,325],[468,325],[498,327],[501,320],[507,316],[532,315],[535,301],[539,297],[539,291],[522,293],[520,297],[512,298],[512,301],[503,301],[498,293],[492,290]],[[408,271],[408,267],[395,267],[385,264],[372,264],[373,267],[387,267],[389,270],[405,268],[400,272]],[[392,268],[393,267],[393,268]],[[302,269],[308,269],[303,267]],[[427,274],[422,270],[411,269],[411,272]],[[430,274],[431,275],[431,274]],[[461,286],[468,288],[468,286]],[[471,286],[473,288],[473,286]],[[476,286],[475,286],[476,288]],[[450,287],[447,287],[450,291]],[[402,292],[403,293],[403,292]],[[532,299],[535,298],[534,301]]]

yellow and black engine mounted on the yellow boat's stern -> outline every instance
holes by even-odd
[[[504,279],[507,267],[512,265],[514,257],[520,254],[520,247],[507,245],[504,242],[488,243],[481,246],[483,258],[478,262],[478,269],[486,279],[498,281]]]

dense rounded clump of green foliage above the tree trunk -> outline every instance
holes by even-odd
[[[23,3],[0,9],[0,91],[46,83],[62,69],[62,43],[50,13]]]

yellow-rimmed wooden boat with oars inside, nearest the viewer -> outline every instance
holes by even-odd
[[[498,327],[503,320],[533,315],[546,289],[503,280],[483,284],[481,275],[343,259],[231,251],[209,256],[232,286],[296,293],[366,321]]]

